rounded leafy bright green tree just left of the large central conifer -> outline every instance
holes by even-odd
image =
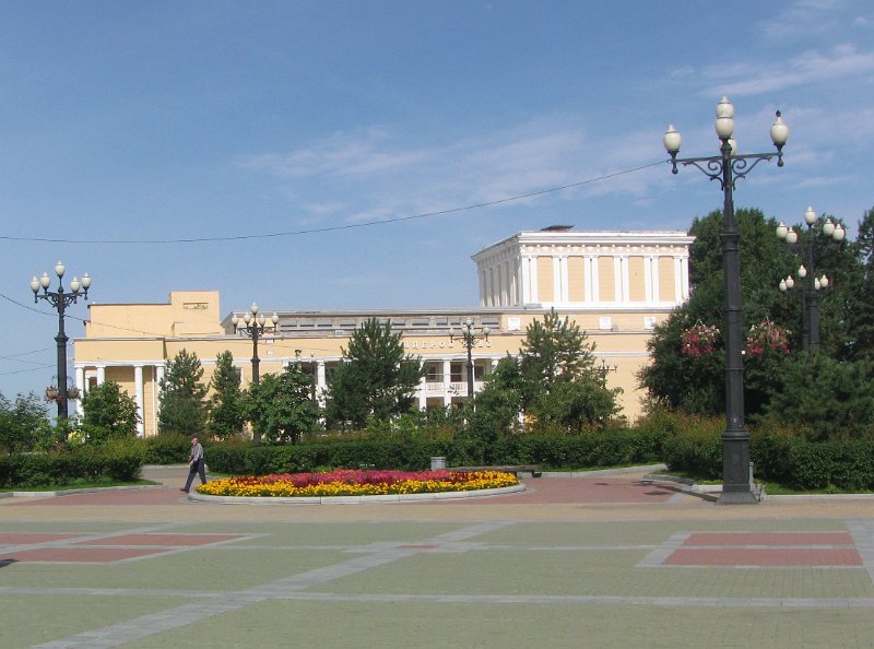
[[[251,385],[245,414],[258,438],[268,444],[297,442],[304,434],[316,430],[320,413],[311,387],[312,378],[297,365]]]

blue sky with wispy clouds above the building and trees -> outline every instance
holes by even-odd
[[[465,307],[471,255],[518,231],[687,229],[721,193],[658,164],[662,134],[716,154],[723,94],[742,152],[771,150],[777,108],[791,128],[736,204],[812,204],[854,236],[874,205],[867,0],[5,1],[0,392],[56,374],[28,281],[58,259],[95,303]],[[81,335],[86,307],[69,314]]]

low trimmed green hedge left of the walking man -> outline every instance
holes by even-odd
[[[0,457],[0,488],[62,486],[76,480],[133,482],[139,479],[142,465],[141,449],[130,442],[3,456]]]

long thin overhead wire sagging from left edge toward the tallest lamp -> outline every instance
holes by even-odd
[[[291,236],[300,236],[307,234],[323,234],[328,232],[339,232],[344,229],[354,229],[361,227],[370,227],[374,225],[389,225],[392,223],[403,223],[405,221],[415,221],[418,219],[430,219],[434,216],[446,216],[448,214],[456,214],[458,212],[464,212],[468,210],[477,210],[481,208],[491,208],[494,205],[500,205],[504,203],[510,203],[515,201],[521,201],[524,199],[530,199],[538,196],[544,196],[547,193],[555,193],[556,191],[564,191],[566,189],[572,189],[575,187],[582,187],[583,185],[591,185],[592,182],[599,182],[601,180],[607,180],[610,178],[616,178],[618,176],[625,176],[627,174],[634,174],[636,172],[640,172],[642,169],[647,169],[649,167],[654,167],[656,165],[664,164],[668,161],[660,160],[658,162],[649,163],[646,165],[640,165],[638,167],[634,167],[630,169],[624,169],[622,172],[614,172],[612,174],[605,174],[603,176],[598,176],[597,178],[589,178],[588,180],[580,180],[578,182],[570,182],[568,185],[562,185],[560,187],[552,187],[550,189],[541,189],[538,191],[531,191],[528,193],[522,193],[518,196],[512,196],[508,198],[497,199],[494,201],[485,201],[482,203],[473,203],[471,205],[464,205],[461,208],[449,208],[447,210],[438,210],[436,212],[425,212],[422,214],[413,214],[410,216],[398,216],[395,219],[385,219],[382,221],[365,221],[363,223],[350,223],[346,225],[331,225],[326,227],[315,227],[309,229],[293,229],[286,232],[274,232],[274,233],[265,233],[265,234],[249,234],[249,235],[235,235],[235,236],[226,236],[226,237],[192,237],[192,238],[184,238],[184,239],[50,239],[50,238],[39,238],[39,237],[11,237],[0,235],[0,240],[7,241],[26,241],[26,243],[40,243],[40,244],[87,244],[87,245],[167,245],[167,244],[205,244],[205,243],[218,243],[218,241],[241,241],[248,239],[269,239],[269,238],[277,238],[277,237],[291,237]]]

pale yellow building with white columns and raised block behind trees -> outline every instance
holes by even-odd
[[[444,406],[468,393],[468,350],[453,339],[472,318],[474,388],[497,362],[517,354],[525,328],[551,308],[576,321],[595,343],[597,365],[610,387],[624,390],[623,413],[640,413],[636,374],[648,362],[647,340],[657,322],[688,298],[688,247],[684,232],[575,232],[554,226],[521,232],[473,256],[480,280],[475,308],[295,311],[277,309],[274,332],[258,341],[261,375],[300,363],[314,375],[319,398],[326,377],[342,361],[341,347],[366,319],[391,321],[427,374],[417,391],[421,408]],[[85,337],[73,341],[76,387],[114,380],[140,408],[140,435],[157,430],[158,382],[167,361],[193,352],[208,380],[216,356],[231,351],[243,385],[251,381],[252,341],[222,317],[217,291],[175,291],[167,304],[91,304]],[[262,311],[263,312],[263,311]],[[268,309],[268,326],[273,310]]]

